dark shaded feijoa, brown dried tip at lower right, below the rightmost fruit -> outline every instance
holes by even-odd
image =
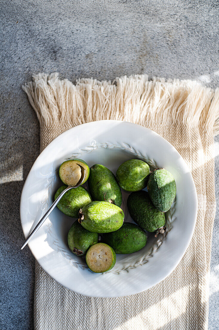
[[[165,215],[153,205],[146,191],[132,192],[127,199],[131,217],[141,228],[154,232],[165,225]]]

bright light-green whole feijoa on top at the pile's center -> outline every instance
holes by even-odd
[[[114,204],[95,201],[80,210],[78,221],[91,232],[109,233],[122,226],[124,213]]]

